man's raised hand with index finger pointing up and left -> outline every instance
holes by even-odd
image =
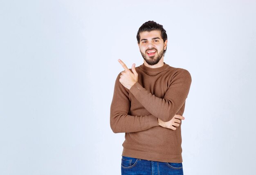
[[[120,59],[118,61],[124,68],[124,71],[121,72],[119,81],[124,87],[130,90],[130,88],[138,81],[138,74],[135,70],[135,64],[132,64],[131,72],[123,61]]]

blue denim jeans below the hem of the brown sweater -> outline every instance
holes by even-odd
[[[183,175],[182,163],[157,162],[122,156],[122,175]]]

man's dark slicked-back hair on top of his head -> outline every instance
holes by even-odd
[[[167,40],[167,34],[166,34],[166,30],[164,29],[164,27],[160,24],[157,24],[155,21],[148,21],[145,22],[143,25],[141,25],[141,27],[139,27],[139,30],[137,32],[137,42],[139,43],[140,40],[140,36],[139,33],[143,32],[143,31],[153,31],[153,30],[159,30],[161,31],[161,37],[163,38],[164,42]],[[166,47],[167,49],[167,47]],[[164,51],[165,54],[166,50]]]

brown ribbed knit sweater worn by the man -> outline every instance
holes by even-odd
[[[164,63],[136,67],[138,82],[130,90],[115,82],[110,108],[113,132],[125,132],[123,156],[159,162],[182,162],[181,123],[176,130],[158,126],[157,118],[170,121],[182,115],[191,76],[187,70]]]

